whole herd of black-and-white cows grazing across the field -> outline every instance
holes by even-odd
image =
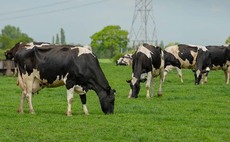
[[[44,87],[65,85],[67,89],[67,112],[72,115],[73,93],[80,95],[83,111],[88,114],[86,93],[94,90],[105,114],[114,112],[115,90],[112,89],[99,65],[97,57],[88,47],[51,45],[44,42],[17,43],[5,52],[6,59],[14,60],[18,71],[18,84],[22,90],[19,113],[23,113],[27,100],[30,113],[34,113],[32,94]],[[137,98],[140,82],[146,80],[146,97],[152,97],[153,78],[160,76],[158,96],[162,95],[162,83],[167,73],[176,68],[182,78],[182,68],[192,69],[195,84],[201,79],[207,82],[210,70],[222,69],[225,82],[229,83],[230,46],[173,45],[162,50],[148,44],[140,45],[134,54],[117,60],[117,65],[132,65],[129,98]],[[145,77],[143,77],[143,74]]]

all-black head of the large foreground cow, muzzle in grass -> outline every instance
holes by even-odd
[[[100,98],[101,109],[105,114],[112,114],[114,112],[116,90],[110,87],[106,90],[106,95]]]

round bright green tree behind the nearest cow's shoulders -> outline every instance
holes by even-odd
[[[128,32],[120,26],[106,26],[91,37],[91,46],[99,58],[111,58],[126,49],[129,42]]]

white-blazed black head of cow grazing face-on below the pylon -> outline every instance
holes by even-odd
[[[131,88],[129,92],[129,97],[137,98],[141,88],[140,81],[136,77],[133,77],[132,80],[127,80],[126,82],[129,83]]]

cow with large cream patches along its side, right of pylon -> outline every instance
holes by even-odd
[[[200,51],[200,52],[198,52]],[[198,45],[186,45],[186,44],[179,44],[179,45],[173,45],[165,48],[165,71],[164,71],[164,79],[169,71],[171,71],[173,68],[177,69],[178,75],[181,79],[181,82],[183,83],[183,77],[181,69],[194,69],[195,71],[195,84],[199,84],[200,82],[200,76],[204,72],[209,71],[208,65],[204,64],[204,60],[208,59],[208,51],[204,46],[198,46]],[[205,56],[199,56],[198,54]],[[210,62],[206,62],[210,63]],[[199,79],[198,79],[199,78]]]

